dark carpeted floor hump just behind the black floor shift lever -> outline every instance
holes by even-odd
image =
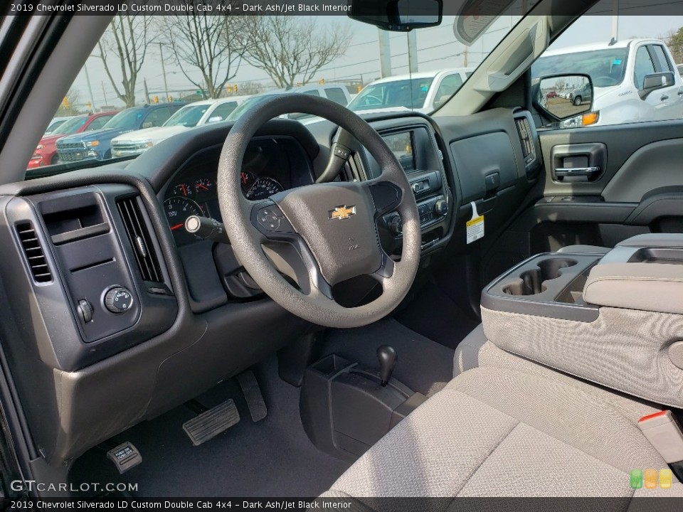
[[[329,329],[323,355],[336,353],[362,366],[378,368],[376,351],[383,344],[393,346],[398,353],[393,377],[413,391],[433,395],[453,378],[453,351],[394,319],[357,329]]]

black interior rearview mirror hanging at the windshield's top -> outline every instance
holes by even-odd
[[[349,18],[386,31],[409,32],[441,24],[443,0],[352,0]]]

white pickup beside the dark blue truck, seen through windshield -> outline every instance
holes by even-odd
[[[201,100],[185,105],[160,127],[145,128],[112,139],[112,156],[117,158],[141,154],[154,144],[159,144],[162,140],[184,132],[186,129],[225,121],[246,98],[248,96],[233,96],[218,100]]]

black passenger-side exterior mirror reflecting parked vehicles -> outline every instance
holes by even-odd
[[[534,105],[555,121],[590,112],[593,107],[593,81],[589,75],[549,75],[534,79]]]

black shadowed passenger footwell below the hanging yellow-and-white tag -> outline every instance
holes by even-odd
[[[462,311],[434,283],[428,283],[406,309],[396,314],[404,326],[455,350],[480,320]]]

